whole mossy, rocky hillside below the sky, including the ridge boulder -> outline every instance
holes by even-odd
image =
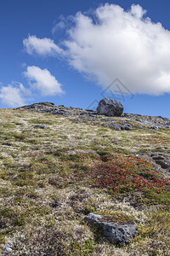
[[[170,255],[170,120],[122,109],[0,109],[2,255]]]

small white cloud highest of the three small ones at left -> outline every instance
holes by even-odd
[[[63,49],[54,44],[54,41],[50,38],[29,36],[23,40],[23,44],[29,55],[56,56],[63,53]]]

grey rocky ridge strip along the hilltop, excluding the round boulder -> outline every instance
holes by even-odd
[[[64,105],[55,106],[54,103],[51,102],[39,102],[14,109],[62,115],[74,119],[75,122],[89,121],[98,123],[115,131],[130,131],[133,129],[149,128],[156,132],[156,130],[159,131],[161,128],[170,129],[170,120],[161,116],[122,113],[122,116],[119,118],[116,118],[115,116],[107,117],[105,114],[99,114],[97,111],[91,109],[85,110],[82,108],[65,107]]]

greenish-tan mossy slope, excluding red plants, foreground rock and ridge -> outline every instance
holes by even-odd
[[[94,165],[114,154],[126,172],[134,154],[170,152],[170,131],[114,131],[89,120],[13,109],[0,110],[0,126],[0,243],[14,239],[11,255],[170,255],[168,191],[113,193],[91,176]],[[148,169],[139,165],[138,174],[147,176]],[[88,212],[133,221],[139,236],[116,247],[86,224]]]

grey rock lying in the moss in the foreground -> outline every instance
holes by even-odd
[[[95,224],[103,230],[106,239],[116,244],[127,244],[133,237],[138,236],[138,227],[136,224],[116,224],[113,222],[102,221],[102,216],[89,213],[86,217],[89,224]]]

